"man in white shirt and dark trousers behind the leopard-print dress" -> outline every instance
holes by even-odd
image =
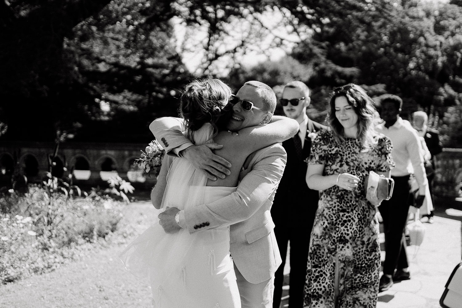
[[[399,116],[401,106],[400,97],[387,95],[382,97],[378,108],[383,123],[376,129],[378,133],[383,133],[391,139],[393,144],[391,155],[396,164],[391,170],[391,177],[395,180],[393,196],[388,201],[383,201],[378,208],[383,218],[385,233],[385,262],[383,275],[380,278],[380,292],[388,290],[393,285],[393,280],[410,279],[404,238],[409,211],[409,176],[413,174],[419,184],[419,193],[415,202],[417,207],[422,205],[428,185],[424,161],[420,155],[419,136],[410,123],[403,121]]]

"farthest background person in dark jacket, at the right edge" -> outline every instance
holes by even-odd
[[[426,175],[428,181],[428,188],[430,189],[430,196],[432,197],[433,207],[433,187],[432,181],[435,177],[435,155],[443,151],[443,146],[439,140],[439,133],[436,129],[427,127],[428,115],[424,111],[416,111],[413,113],[414,128],[417,130],[419,137],[424,137],[425,144],[427,145],[428,151],[430,151],[430,166],[426,166]],[[428,223],[433,223],[434,211],[432,210],[428,217]]]

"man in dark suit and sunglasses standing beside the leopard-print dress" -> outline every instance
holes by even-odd
[[[295,119],[300,130],[282,143],[287,152],[286,169],[274,196],[271,216],[282,264],[274,274],[273,308],[280,307],[287,243],[290,242],[289,307],[303,306],[303,288],[306,276],[308,246],[315,219],[319,192],[308,188],[305,181],[310,156],[311,138],[320,129],[327,128],[311,121],[306,115],[310,105],[310,90],[301,81],[284,86],[280,103],[287,117]]]

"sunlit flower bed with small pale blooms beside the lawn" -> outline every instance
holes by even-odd
[[[79,258],[85,243],[116,231],[124,203],[112,198],[69,198],[40,186],[0,196],[0,283],[49,272]]]

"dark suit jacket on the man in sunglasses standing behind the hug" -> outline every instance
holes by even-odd
[[[276,227],[305,228],[307,223],[312,226],[316,215],[319,192],[308,188],[306,185],[305,177],[308,165],[304,160],[310,157],[311,138],[308,137],[308,134],[320,129],[327,129],[327,127],[308,119],[307,129],[302,157],[298,157],[295,152],[293,138],[282,143],[287,152],[287,163],[271,208],[271,216]]]

